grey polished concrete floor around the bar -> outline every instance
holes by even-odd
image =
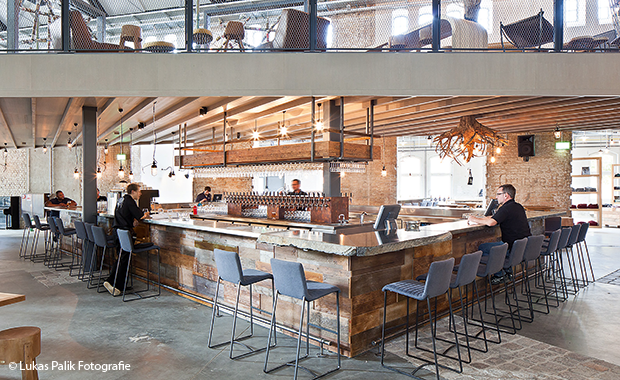
[[[590,230],[587,241],[597,278],[620,268],[620,260],[614,257],[618,237],[620,230]],[[264,374],[264,354],[231,361],[227,348],[207,348],[209,307],[166,291],[158,298],[123,303],[108,293],[86,289],[84,283],[62,272],[49,271],[41,263],[20,260],[20,241],[21,231],[0,231],[0,291],[26,295],[25,302],[0,308],[0,329],[25,325],[42,329],[42,353],[37,363],[48,369],[39,371],[41,379],[273,379],[293,375],[291,368]],[[520,334],[620,365],[614,350],[620,330],[619,295],[617,285],[592,284],[550,315],[537,314],[535,322],[525,324]],[[216,341],[229,338],[230,320],[217,320],[221,327],[216,329]],[[241,322],[241,326],[247,327],[247,323]],[[256,328],[256,338],[250,344],[263,345],[266,333],[266,329]],[[294,340],[283,336],[279,339],[280,348],[273,351],[270,363],[290,358],[294,352]],[[343,358],[343,369],[332,377],[398,378],[400,375],[381,368],[375,353]],[[399,358],[390,360],[404,362]],[[75,365],[75,370],[59,369],[57,364],[65,361]],[[78,370],[80,361],[99,365],[122,361],[130,369]],[[308,361],[317,370],[335,363],[331,356]],[[310,378],[303,371],[299,376]],[[0,379],[19,378],[18,371],[0,366]],[[426,373],[424,378],[434,375]]]

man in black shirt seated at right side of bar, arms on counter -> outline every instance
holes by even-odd
[[[514,198],[517,190],[510,184],[502,185],[497,188],[496,197],[500,207],[497,209],[494,215],[477,217],[470,216],[469,222],[475,224],[484,224],[485,226],[493,227],[499,224],[499,228],[502,231],[502,241],[482,243],[478,247],[482,251],[483,256],[488,256],[491,248],[503,243],[508,243],[508,253],[512,249],[512,244],[515,240],[523,239],[531,236],[530,225],[527,222],[527,216],[525,215],[525,209],[522,205],[515,202]],[[491,279],[494,284],[499,284],[503,281],[503,277],[508,274],[511,276],[510,269],[508,273],[503,270],[496,273]]]

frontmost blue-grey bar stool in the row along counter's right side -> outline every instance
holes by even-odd
[[[416,356],[409,354],[409,300],[411,298],[415,299],[417,302],[416,305],[416,329],[415,329],[415,347],[418,348],[418,311],[419,305],[422,301],[426,301],[426,305],[428,307],[428,318],[430,323],[431,330],[431,341],[433,342],[433,355],[434,355],[434,364],[435,364],[435,374],[437,376],[437,380],[439,380],[439,367],[449,369],[455,372],[462,372],[463,366],[460,360],[460,347],[458,343],[458,338],[456,335],[456,330],[454,331],[454,340],[459,356],[459,366],[460,370],[453,369],[451,367],[445,366],[443,364],[439,364],[437,361],[437,346],[435,343],[436,339],[436,325],[437,325],[437,297],[442,296],[448,293],[450,288],[450,282],[452,278],[452,269],[454,269],[454,258],[449,258],[443,261],[435,261],[431,263],[431,266],[428,270],[428,276],[426,278],[425,283],[421,283],[416,280],[403,280],[398,282],[393,282],[391,284],[387,284],[383,287],[383,325],[381,327],[381,366],[385,367],[391,371],[398,372],[402,375],[413,377],[414,379],[420,379],[415,376],[415,373],[419,371],[422,367],[427,365],[432,365],[432,362],[429,362],[427,359],[418,358]],[[426,363],[416,367],[416,369],[412,372],[405,372],[398,368],[387,366],[384,363],[385,357],[385,324],[386,324],[386,314],[387,314],[387,292],[394,292],[396,294],[400,294],[407,298],[407,316],[406,316],[406,327],[405,327],[405,353],[407,356],[414,357]],[[433,322],[432,308],[431,308],[431,299],[435,298],[435,318]],[[452,313],[452,303],[448,303],[450,310],[450,323],[454,322],[454,315]]]

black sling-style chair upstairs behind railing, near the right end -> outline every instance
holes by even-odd
[[[499,23],[500,41],[505,51],[504,38],[517,49],[537,48],[553,42],[553,25],[543,17],[541,9],[537,15],[504,25]]]

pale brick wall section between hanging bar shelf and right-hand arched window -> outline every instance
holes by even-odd
[[[377,151],[382,151],[383,141],[375,139]],[[346,174],[341,180],[343,193],[352,193],[351,204],[379,206],[396,203],[396,137],[385,138],[385,159],[383,152],[375,152],[374,161],[369,162],[366,173]],[[387,177],[381,176],[385,165]]]

